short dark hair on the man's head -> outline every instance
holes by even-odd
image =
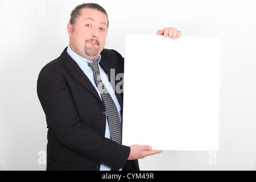
[[[76,6],[75,9],[73,9],[73,11],[70,14],[71,17],[69,19],[69,23],[75,26],[76,20],[81,15],[81,10],[84,8],[94,9],[104,13],[108,18],[108,27],[109,27],[109,17],[108,17],[108,14],[106,13],[106,10],[102,6],[96,3],[82,3],[81,5]]]

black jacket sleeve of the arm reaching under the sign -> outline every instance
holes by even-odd
[[[43,68],[38,77],[37,92],[48,125],[65,146],[113,170],[125,166],[130,147],[102,137],[80,121],[64,75]]]

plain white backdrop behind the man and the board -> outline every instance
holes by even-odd
[[[68,46],[69,14],[83,2],[0,0],[0,170],[46,169],[38,163],[47,129],[36,80]],[[93,2],[109,14],[106,48],[123,56],[125,34],[169,26],[221,40],[220,150],[164,151],[140,160],[141,169],[256,170],[256,1]]]

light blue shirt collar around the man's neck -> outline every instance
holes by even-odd
[[[90,67],[88,66],[88,63],[92,63],[92,61],[85,59],[82,56],[79,56],[76,52],[74,52],[71,49],[70,45],[68,45],[67,52],[68,52],[69,56],[71,56],[72,59],[76,61],[76,63],[79,65],[79,67],[85,68],[85,69],[90,69]],[[98,55],[98,57],[96,59],[98,59],[98,63],[100,63],[101,55]]]

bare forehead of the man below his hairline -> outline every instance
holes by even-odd
[[[81,14],[78,19],[80,19],[82,21],[86,18],[93,19],[100,23],[108,22],[108,18],[106,17],[106,15],[104,13],[102,13],[101,11],[98,11],[95,9],[89,9],[89,8],[82,9]]]

